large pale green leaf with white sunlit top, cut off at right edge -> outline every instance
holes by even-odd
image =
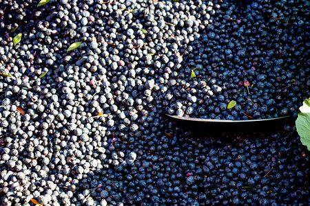
[[[300,135],[300,141],[310,151],[310,98],[304,100],[300,106],[300,113],[296,119],[296,129]]]

